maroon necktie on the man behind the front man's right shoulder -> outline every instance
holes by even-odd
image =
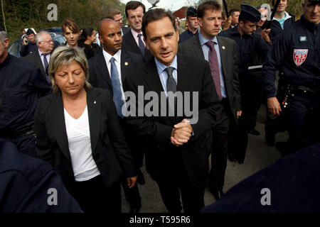
[[[217,91],[218,97],[221,100],[222,94],[221,94],[221,84],[220,84],[220,71],[219,71],[219,63],[218,63],[218,55],[217,52],[215,52],[213,41],[208,41],[206,43],[209,50],[209,65],[211,70],[211,75],[213,77],[213,81],[215,82],[215,90]]]

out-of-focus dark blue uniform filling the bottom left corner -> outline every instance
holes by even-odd
[[[19,153],[0,138],[0,213],[80,213],[57,172],[47,162]],[[56,190],[49,192],[48,189]],[[53,202],[56,199],[56,204]],[[50,203],[48,203],[48,201]]]

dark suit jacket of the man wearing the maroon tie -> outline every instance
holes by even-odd
[[[222,36],[217,36],[217,38],[227,98],[235,122],[238,123],[237,111],[241,110],[240,82],[238,78],[238,49],[234,40]],[[181,43],[178,51],[186,55],[205,59],[198,35]]]

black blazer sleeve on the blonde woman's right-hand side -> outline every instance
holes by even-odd
[[[105,100],[107,104],[105,108],[107,109],[108,135],[110,137],[110,142],[112,148],[114,149],[114,153],[117,155],[119,164],[124,171],[125,177],[137,176],[129,145],[124,137],[122,126],[119,123],[117,110],[115,109],[114,102],[112,101],[112,98],[108,92],[105,93]]]

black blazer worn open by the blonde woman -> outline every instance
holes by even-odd
[[[124,138],[112,98],[105,89],[87,89],[92,157],[107,187],[125,177],[136,176],[134,160]],[[60,174],[73,194],[75,178],[65,130],[63,100],[50,94],[38,101],[35,114],[36,152]]]

